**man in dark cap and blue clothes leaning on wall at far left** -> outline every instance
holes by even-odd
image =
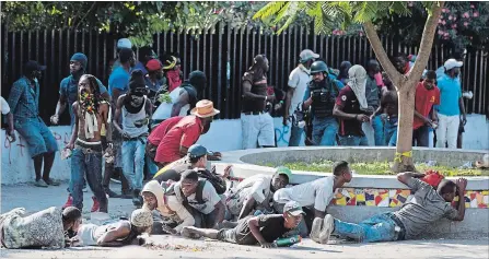
[[[58,144],[51,131],[39,117],[39,82],[40,72],[46,69],[37,61],[27,61],[23,75],[13,83],[9,95],[9,106],[15,121],[14,128],[25,139],[28,153],[34,161],[37,187],[59,186],[59,183],[49,178],[55,162]],[[40,168],[44,172],[40,175]]]

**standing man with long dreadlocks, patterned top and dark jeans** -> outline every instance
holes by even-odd
[[[109,103],[101,95],[96,78],[83,74],[78,83],[78,101],[73,104],[74,129],[66,149],[72,151],[71,181],[73,205],[83,208],[83,176],[100,202],[100,212],[107,213],[108,200],[102,187],[101,128],[107,127],[107,154],[112,154]],[[92,211],[93,212],[93,211]]]

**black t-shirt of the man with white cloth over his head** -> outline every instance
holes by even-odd
[[[345,86],[339,91],[336,104],[342,107],[342,111],[346,114],[364,114],[360,109],[360,104],[354,95],[353,90],[350,86]],[[341,137],[348,136],[364,136],[362,131],[362,122],[357,119],[340,119],[338,134]]]

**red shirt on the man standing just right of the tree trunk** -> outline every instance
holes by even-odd
[[[433,105],[440,105],[440,89],[433,85],[432,90],[424,87],[422,82],[419,82],[416,86],[415,109],[422,116],[427,117],[430,114]],[[415,115],[412,121],[412,128],[418,129],[423,126],[424,122]]]

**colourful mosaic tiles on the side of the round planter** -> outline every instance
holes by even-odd
[[[358,189],[342,188],[335,193],[331,203],[336,205],[370,205],[396,208],[412,198],[409,189]],[[458,197],[455,198],[454,204]],[[465,192],[465,208],[487,209],[489,190],[469,190]]]

